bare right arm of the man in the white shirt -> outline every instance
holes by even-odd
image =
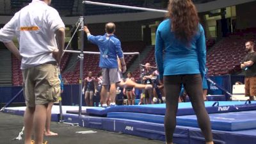
[[[56,59],[57,63],[60,65],[60,60],[63,54],[64,44],[65,44],[65,29],[60,28],[55,31],[56,40],[58,45],[58,51],[54,51],[54,58]]]

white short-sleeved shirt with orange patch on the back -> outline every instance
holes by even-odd
[[[0,29],[0,41],[11,42],[17,36],[22,56],[20,68],[26,69],[55,61],[52,57],[52,51],[58,49],[55,31],[60,28],[65,28],[65,24],[57,10],[44,1],[33,0]]]

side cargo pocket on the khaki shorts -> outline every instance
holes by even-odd
[[[50,102],[56,102],[60,97],[60,79],[48,79],[49,93],[47,94],[47,100]]]

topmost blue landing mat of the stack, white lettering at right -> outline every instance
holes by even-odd
[[[214,105],[215,104],[215,105]],[[208,113],[227,113],[232,111],[249,111],[256,110],[256,102],[245,104],[245,101],[220,101],[205,102],[205,108]],[[110,112],[132,112],[132,113],[148,113],[154,115],[164,115],[165,104],[147,104],[139,106],[115,106],[111,108],[93,108],[86,109],[88,115],[106,116]],[[67,111],[68,113],[68,111]],[[179,103],[177,115],[194,115],[195,112],[191,106],[191,102]]]

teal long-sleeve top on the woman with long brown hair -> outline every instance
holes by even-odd
[[[204,29],[199,24],[191,42],[183,44],[170,30],[170,19],[159,24],[156,31],[155,56],[159,77],[180,74],[205,74],[206,45]]]

